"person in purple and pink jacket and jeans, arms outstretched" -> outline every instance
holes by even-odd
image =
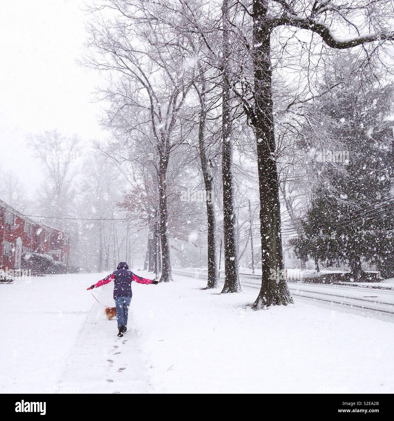
[[[139,284],[154,284],[157,285],[158,281],[142,278],[129,270],[129,266],[126,262],[120,262],[115,272],[106,276],[96,284],[92,285],[87,290],[101,287],[102,285],[108,284],[114,281],[113,298],[116,305],[116,318],[118,320],[118,336],[121,338],[123,333],[127,330],[127,318],[129,315],[129,306],[131,302],[131,282],[135,281]]]

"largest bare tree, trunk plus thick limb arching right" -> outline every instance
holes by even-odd
[[[372,3],[369,0],[348,3],[330,0],[253,0],[251,10],[244,7],[244,13],[249,15],[252,26],[252,39],[245,37],[245,40],[250,51],[253,73],[252,79],[244,80],[242,87],[247,86],[250,96],[245,96],[236,85],[233,85],[233,91],[243,101],[257,142],[263,277],[260,293],[254,303],[255,309],[292,303],[284,276],[281,275],[283,251],[275,155],[271,38],[277,35],[278,28],[288,27],[289,32],[303,29],[310,31],[312,37],[317,34],[330,48],[345,49],[376,43],[373,46],[376,50],[384,41],[394,38],[393,29],[387,29],[392,27],[391,18],[386,17],[390,16],[390,8],[390,2],[386,0]],[[370,29],[375,32],[369,32]],[[341,39],[335,35],[335,31],[350,32],[354,36]],[[362,35],[365,31],[369,33]]]

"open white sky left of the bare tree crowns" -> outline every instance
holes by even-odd
[[[76,63],[88,19],[80,0],[13,0],[0,14],[1,169],[18,173],[34,192],[41,168],[26,136],[57,128],[88,144],[102,139],[92,92],[98,73]]]

